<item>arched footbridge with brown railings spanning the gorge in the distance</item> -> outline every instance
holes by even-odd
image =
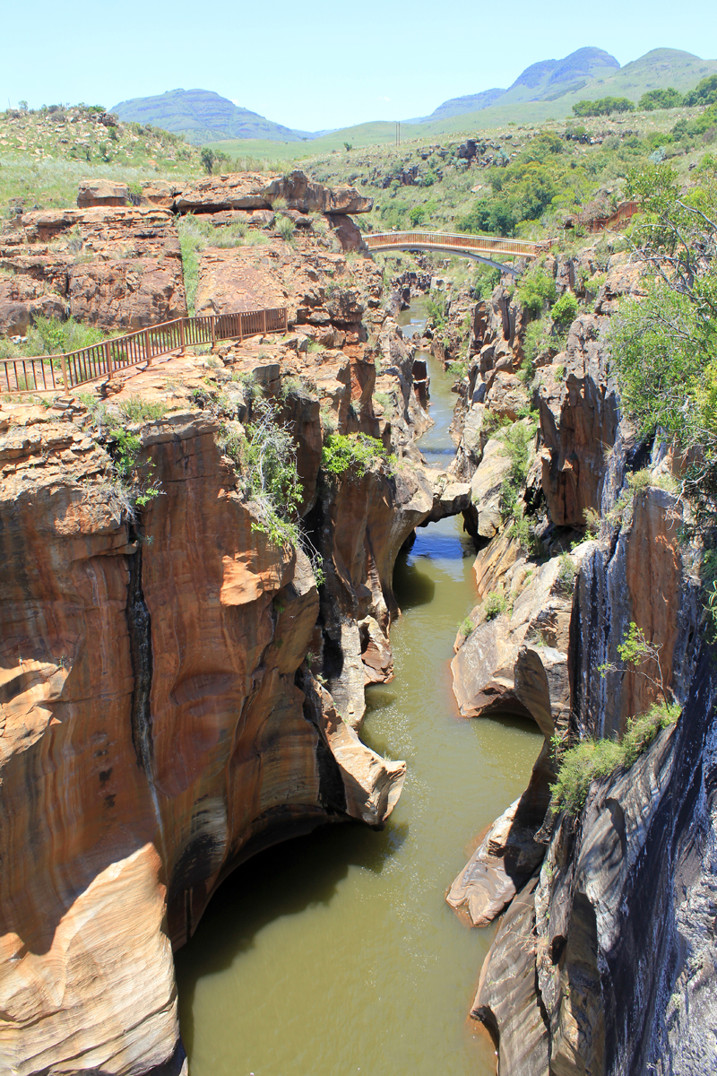
[[[472,258],[514,275],[520,270],[502,259],[536,258],[557,242],[555,239],[546,239],[535,243],[529,239],[461,236],[448,231],[370,231],[364,233],[363,239],[370,251],[436,251],[440,254]]]

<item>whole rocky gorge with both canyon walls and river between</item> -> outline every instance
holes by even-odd
[[[8,1071],[711,1071],[708,547],[620,395],[644,261],[441,291],[352,187],[124,197],[3,226],[9,336],[288,328],[2,402]]]

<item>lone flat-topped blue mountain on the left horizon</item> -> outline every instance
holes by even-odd
[[[223,139],[300,142],[314,137],[266,119],[210,89],[170,89],[157,97],[134,97],[115,104],[112,111],[126,123],[150,124],[184,134],[195,145]]]

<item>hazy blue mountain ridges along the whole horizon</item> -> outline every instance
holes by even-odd
[[[717,60],[703,60],[677,48],[654,48],[621,68],[603,48],[585,46],[562,59],[531,63],[507,89],[493,87],[454,97],[443,101],[430,116],[402,123],[438,124],[438,132],[442,124],[448,125],[446,130],[453,129],[458,117],[464,115],[469,122],[469,117],[483,112],[486,112],[486,125],[533,118],[531,107],[532,113],[568,116],[580,98],[628,97],[637,102],[650,89],[672,86],[685,93],[705,75],[716,72]],[[195,145],[245,139],[306,142],[327,133],[339,133],[285,127],[207,89],[172,89],[155,97],[135,97],[120,101],[112,111],[126,122],[152,124],[183,134]],[[362,128],[371,126],[359,124],[345,128],[342,138],[345,136],[353,141],[353,131],[360,137]]]

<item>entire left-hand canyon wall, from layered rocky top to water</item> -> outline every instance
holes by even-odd
[[[252,178],[234,195],[242,183],[254,197]],[[287,212],[365,208],[297,176],[271,183]],[[190,204],[226,211],[216,184],[200,187]],[[125,235],[174,228],[162,209],[66,215],[83,241],[89,222],[98,235],[120,218]],[[41,221],[14,235],[15,283],[35,279],[35,242],[39,275],[59,258],[74,279],[72,251],[49,249]],[[188,349],[48,406],[2,405],[0,1056],[18,1076],[183,1071],[172,949],[223,878],[319,824],[381,826],[400,794],[404,763],[357,733],[364,684],[392,675],[401,544],[460,504],[441,500],[447,477],[412,462],[429,419],[381,274],[326,235],[201,263],[207,309],[271,292],[290,311],[284,336]],[[178,278],[174,292],[183,303]],[[117,309],[119,321],[100,289],[89,320],[145,316]],[[232,450],[266,407],[293,440],[312,560],[272,537]],[[326,472],[327,438],[352,431],[377,438],[367,462]]]

